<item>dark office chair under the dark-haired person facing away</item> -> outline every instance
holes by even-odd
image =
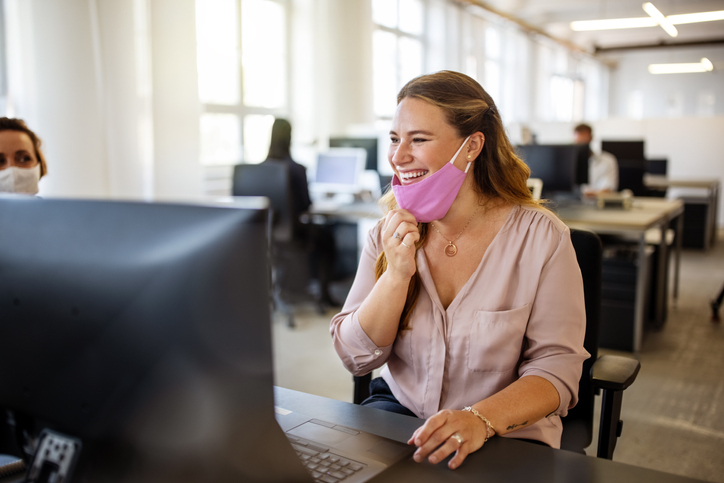
[[[287,317],[287,325],[294,327],[292,303],[312,296],[309,249],[304,240],[295,237],[289,167],[274,161],[238,164],[234,166],[232,194],[269,199],[272,297],[276,308]]]

